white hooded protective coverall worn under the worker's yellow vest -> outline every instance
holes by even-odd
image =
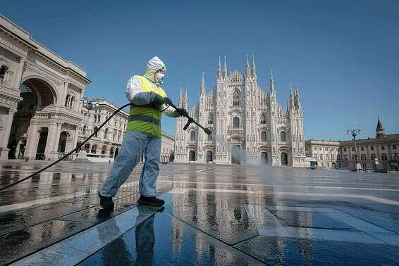
[[[161,59],[155,56],[148,61],[144,75],[156,89],[158,89],[159,83],[155,82],[154,75],[161,68],[166,69],[166,66]],[[133,76],[128,80],[125,90],[128,100],[138,106],[151,104],[153,94],[142,92],[141,86],[140,78],[137,76]],[[166,106],[161,106],[160,108],[160,110],[164,110]],[[171,117],[178,116],[170,106],[164,110],[164,113]],[[145,164],[139,180],[139,191],[145,197],[155,196],[156,177],[158,177],[159,173],[159,156],[161,154],[161,138],[140,131],[126,132],[125,137],[123,137],[121,151],[119,151],[113,162],[113,167],[102,184],[99,193],[105,197],[116,196],[119,187],[128,179],[143,154],[145,154]]]

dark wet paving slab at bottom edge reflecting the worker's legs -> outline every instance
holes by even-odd
[[[164,213],[147,218],[80,265],[121,262],[126,265],[264,265]]]

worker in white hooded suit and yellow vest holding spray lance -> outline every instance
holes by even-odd
[[[164,205],[156,198],[156,177],[159,172],[161,153],[161,117],[165,113],[171,117],[188,115],[187,110],[173,110],[171,99],[160,87],[164,81],[166,66],[158,57],[147,63],[145,75],[130,78],[126,87],[126,96],[133,103],[130,107],[128,125],[123,137],[121,151],[116,156],[111,172],[99,189],[100,205],[113,210],[112,197],[128,179],[133,168],[145,155],[145,163],[139,180],[139,205]]]

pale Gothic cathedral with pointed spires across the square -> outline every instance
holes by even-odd
[[[187,89],[180,90],[178,104],[188,109]],[[189,110],[189,109],[188,109]],[[200,100],[190,116],[213,134],[197,125],[183,130],[187,118],[177,118],[175,162],[218,164],[267,164],[303,166],[305,139],[300,94],[290,90],[287,108],[276,102],[273,72],[269,91],[257,84],[254,59],[245,64],[245,74],[228,73],[226,58],[219,59],[216,87],[207,93],[202,73]]]

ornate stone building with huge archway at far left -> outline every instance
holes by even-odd
[[[75,147],[85,70],[0,15],[0,157],[58,158]]]

